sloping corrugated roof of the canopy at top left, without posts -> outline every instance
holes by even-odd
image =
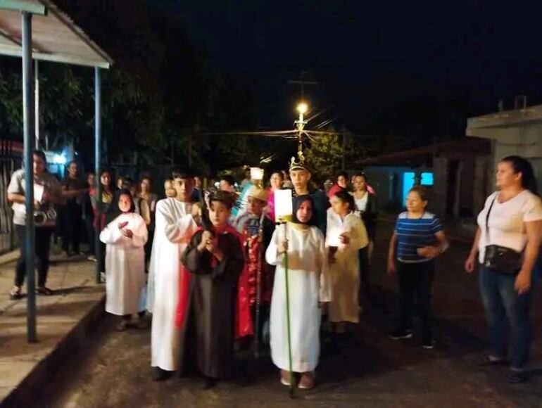
[[[50,0],[0,0],[0,55],[23,56],[20,12],[33,14],[32,58],[108,69],[113,59]]]

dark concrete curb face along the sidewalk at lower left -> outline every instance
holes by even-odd
[[[75,327],[56,345],[47,357],[32,369],[30,374],[0,402],[0,408],[35,406],[35,396],[44,390],[48,381],[60,370],[63,362],[84,346],[97,326],[103,321],[106,295],[92,307]]]

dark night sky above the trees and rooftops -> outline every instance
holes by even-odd
[[[310,103],[356,132],[420,99],[459,101],[467,117],[542,94],[538,1],[149,2],[181,12],[213,63],[251,84],[264,127],[291,112],[299,88],[287,81],[303,70],[322,83]]]

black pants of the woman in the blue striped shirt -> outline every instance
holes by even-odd
[[[435,274],[433,260],[418,263],[397,262],[399,282],[399,329],[412,329],[412,309],[414,297],[417,300],[417,312],[420,314],[422,341],[433,340],[431,329],[431,285]]]

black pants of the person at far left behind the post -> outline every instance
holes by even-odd
[[[52,228],[37,227],[35,251],[36,251],[36,267],[38,273],[38,286],[45,286],[47,280],[47,272],[49,272],[49,246],[51,246]],[[19,240],[20,257],[15,267],[15,286],[23,286],[26,276],[26,260],[25,260],[25,237],[26,227],[24,225],[15,225],[15,232]]]

